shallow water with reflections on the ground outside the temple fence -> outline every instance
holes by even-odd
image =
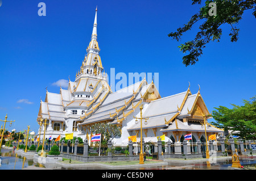
[[[0,170],[21,170],[26,169],[28,166],[33,167],[43,167],[46,169],[61,169],[61,170],[109,170],[106,167],[100,166],[82,166],[82,167],[72,167],[65,168],[59,165],[47,165],[44,166],[39,163],[34,163],[33,159],[22,157],[18,154],[13,153],[12,150],[1,150],[1,164]],[[156,161],[157,162],[157,161]],[[147,163],[144,162],[144,163]],[[253,166],[256,165],[256,157],[240,157],[240,163],[242,166]],[[232,166],[232,159],[225,159],[221,161],[216,161],[216,163],[209,162],[193,162],[193,163],[172,163],[168,162],[166,166],[154,166],[154,167],[139,167],[134,169],[139,170],[175,170],[175,169],[184,169],[184,170],[226,170],[229,166]],[[131,169],[131,168],[129,168]]]

